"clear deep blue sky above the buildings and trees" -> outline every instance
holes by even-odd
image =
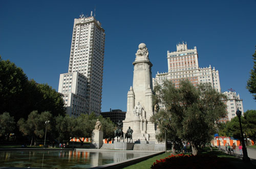
[[[244,110],[256,109],[246,89],[256,45],[256,1],[0,1],[0,54],[28,78],[58,90],[68,72],[74,18],[90,15],[105,30],[102,111],[126,111],[135,53],[145,43],[152,76],[166,72],[167,50],[197,46],[200,67],[219,70],[222,92],[232,88]]]

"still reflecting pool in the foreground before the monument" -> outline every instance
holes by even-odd
[[[112,151],[0,151],[0,166],[35,168],[90,168],[126,159],[154,154],[152,152]]]

